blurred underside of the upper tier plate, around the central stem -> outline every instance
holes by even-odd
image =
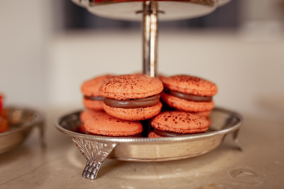
[[[86,8],[92,14],[104,18],[127,21],[141,21],[144,0],[71,0],[76,5]],[[217,7],[231,0],[157,0],[159,21],[184,20],[210,14]]]

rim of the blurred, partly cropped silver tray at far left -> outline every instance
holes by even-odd
[[[30,108],[30,107],[8,105],[8,106],[5,106],[4,109],[7,109],[7,110],[14,109],[14,110],[29,111],[29,112],[33,112],[36,115],[36,117],[34,118],[34,120],[32,120],[30,122],[27,122],[27,123],[25,123],[25,124],[23,124],[23,125],[21,125],[21,126],[19,126],[17,128],[13,128],[11,130],[8,130],[8,131],[5,131],[3,133],[0,133],[0,137],[5,136],[5,135],[11,135],[13,133],[17,133],[17,132],[23,131],[25,129],[28,129],[30,127],[36,126],[36,125],[44,122],[44,113],[42,111]]]

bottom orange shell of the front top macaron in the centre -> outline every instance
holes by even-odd
[[[130,121],[146,120],[160,113],[162,109],[162,103],[146,108],[115,108],[104,104],[104,110],[106,113]]]

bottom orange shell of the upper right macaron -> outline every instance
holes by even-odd
[[[210,102],[193,102],[181,99],[164,92],[161,93],[161,99],[170,107],[187,112],[205,112],[214,108],[214,101]]]

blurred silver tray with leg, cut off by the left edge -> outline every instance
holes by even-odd
[[[40,128],[40,142],[41,145],[44,145],[44,116],[42,112],[24,107],[5,107],[5,109],[9,116],[9,130],[0,133],[0,154],[23,143],[34,127]]]

